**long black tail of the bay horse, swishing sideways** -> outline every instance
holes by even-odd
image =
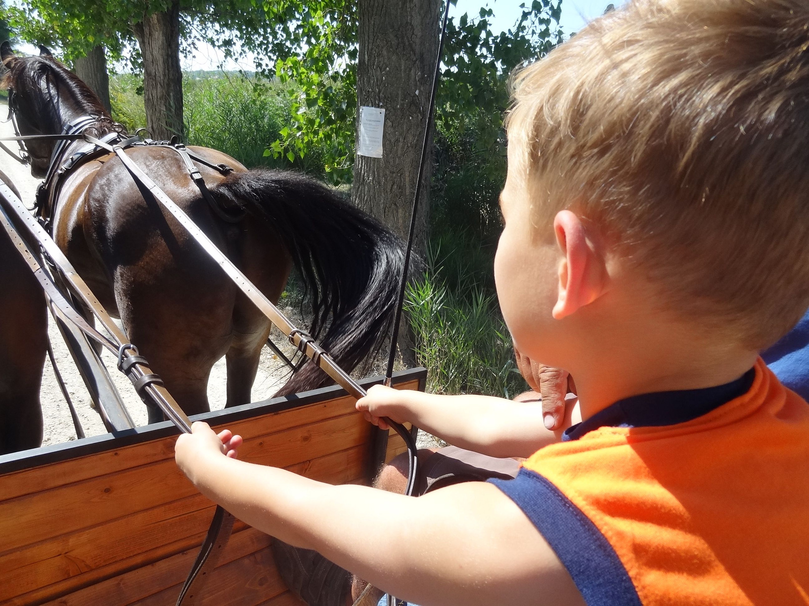
[[[379,221],[314,179],[280,170],[232,173],[211,188],[260,217],[282,238],[303,277],[310,334],[346,371],[388,335],[404,264],[402,242]],[[328,385],[308,362],[277,395]]]

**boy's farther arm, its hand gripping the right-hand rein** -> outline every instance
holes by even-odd
[[[565,422],[557,431],[549,431],[539,402],[443,396],[383,385],[368,389],[357,409],[365,411],[372,423],[379,423],[379,417],[413,423],[448,444],[489,457],[530,457],[543,446],[558,442],[561,431],[581,420],[578,403],[568,406]]]

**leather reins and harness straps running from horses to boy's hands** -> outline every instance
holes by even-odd
[[[184,166],[186,170],[188,170],[189,177],[197,187],[199,187],[201,195],[208,204],[211,205],[214,213],[224,221],[239,222],[244,218],[244,211],[239,209],[239,213],[235,214],[219,206],[213,196],[210,195],[210,191],[208,191],[205,186],[205,181],[202,179],[194,162],[200,162],[205,166],[214,168],[214,170],[218,170],[222,175],[230,173],[233,170],[232,168],[225,165],[213,165],[205,161],[204,158],[200,158],[197,154],[193,154],[193,152],[185,148],[184,145],[176,141],[142,141],[140,137],[127,138],[122,132],[122,128],[120,131],[114,129],[112,133],[107,133],[101,138],[93,137],[87,133],[87,130],[90,130],[94,125],[98,124],[98,116],[80,116],[75,120],[71,120],[64,128],[63,133],[58,135],[38,134],[21,136],[19,135],[17,121],[15,119],[15,104],[11,103],[13,95],[13,90],[10,89],[9,113],[11,115],[12,124],[14,124],[16,136],[0,137],[0,146],[2,146],[2,149],[5,149],[6,152],[15,157],[19,162],[28,164],[31,162],[31,156],[24,145],[25,141],[56,140],[59,142],[57,143],[57,147],[53,149],[46,179],[37,190],[37,203],[34,211],[39,221],[35,219],[29,212],[29,209],[24,206],[22,201],[15,196],[9,187],[0,183],[0,206],[2,206],[5,211],[4,213],[0,213],[0,224],[6,229],[12,242],[15,243],[20,254],[23,255],[23,258],[28,262],[29,267],[31,267],[37,280],[40,281],[47,296],[53,301],[54,307],[57,309],[61,318],[74,323],[87,337],[101,343],[104,347],[116,353],[119,370],[125,372],[130,378],[138,394],[144,402],[146,402],[147,406],[150,404],[158,406],[159,409],[163,411],[163,414],[166,415],[167,419],[175,423],[180,431],[184,433],[191,431],[190,419],[188,419],[188,416],[180,409],[180,406],[175,402],[171,394],[163,387],[163,381],[158,375],[151,372],[148,367],[148,362],[139,355],[137,347],[134,347],[132,343],[128,343],[126,335],[112,322],[112,318],[109,317],[104,307],[95,298],[90,288],[87,287],[87,284],[78,276],[78,273],[74,270],[70,261],[61,252],[56,243],[53,242],[53,239],[45,229],[49,227],[50,223],[50,206],[56,200],[59,185],[64,181],[66,176],[83,162],[87,162],[93,158],[99,158],[101,155],[105,154],[115,154],[116,157],[121,160],[129,171],[129,175],[131,175],[135,183],[138,184],[142,196],[151,196],[154,200],[162,204],[163,208],[166,208],[167,211],[180,222],[180,225],[183,225],[188,233],[197,240],[197,243],[201,245],[203,250],[222,267],[222,270],[225,271],[227,276],[231,278],[234,284],[244,292],[256,307],[258,307],[261,313],[289,338],[290,343],[292,343],[294,347],[304,356],[307,356],[319,368],[324,370],[329,377],[332,377],[337,385],[340,385],[351,396],[354,398],[362,398],[366,395],[365,389],[354,381],[347,372],[340,368],[328,352],[320,347],[311,335],[294,326],[292,322],[277,309],[273,302],[269,301],[269,299],[248,280],[247,276],[244,276],[239,268],[235,267],[230,259],[227,259],[227,256],[218,249],[214,242],[210,241],[191,218],[141,170],[132,158],[129,158],[125,149],[131,149],[139,145],[155,145],[173,149],[177,154],[180,154],[180,158],[183,159]],[[12,152],[6,145],[2,145],[2,141],[18,141],[20,155],[18,156]],[[61,156],[64,155],[71,141],[87,141],[91,147],[87,152],[76,152],[68,158],[66,162],[60,163]],[[24,226],[25,230],[31,236],[32,241],[38,243],[44,255],[49,257],[50,262],[57,268],[61,277],[70,285],[70,290],[78,295],[96,318],[99,318],[101,325],[112,335],[112,339],[101,335],[97,330],[92,328],[80,314],[75,312],[70,302],[61,294],[61,290],[54,284],[53,278],[44,271],[43,265],[45,265],[45,263],[38,262],[39,251],[29,248],[28,244],[19,237],[19,234],[17,234],[15,230],[15,225],[12,225],[6,217],[6,213],[15,215],[17,219],[16,223],[21,223]],[[407,446],[409,473],[406,494],[413,494],[418,461],[415,438],[413,434],[400,423],[395,423],[390,419],[386,419],[386,421],[388,425],[393,427],[401,436],[404,440],[404,444]],[[188,574],[188,578],[180,591],[176,606],[180,606],[181,604],[188,606],[189,604],[193,605],[199,603],[202,596],[202,586],[205,580],[210,578],[210,571],[214,570],[218,557],[221,555],[225,545],[227,545],[227,540],[231,535],[234,521],[234,516],[228,511],[224,510],[221,506],[216,507],[210,528],[201,545],[197,560],[194,562]]]

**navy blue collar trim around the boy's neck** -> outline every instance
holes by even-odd
[[[741,377],[724,385],[705,389],[659,391],[619,400],[582,423],[565,429],[561,441],[578,440],[599,427],[663,427],[707,415],[711,410],[748,393],[756,378],[751,368]]]

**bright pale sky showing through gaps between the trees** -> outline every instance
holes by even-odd
[[[491,27],[496,32],[505,32],[510,27],[514,27],[522,14],[520,5],[523,2],[530,5],[531,0],[458,0],[455,6],[450,7],[450,16],[458,19],[464,13],[470,17],[477,16],[481,6],[489,6],[494,11]],[[616,6],[622,2],[613,0]],[[590,19],[595,19],[604,12],[604,8],[610,0],[563,0],[561,5],[561,27],[565,35],[578,32]],[[28,44],[19,44],[19,50],[23,53],[38,53],[35,47]],[[222,61],[221,53],[216,48],[208,44],[201,44],[193,57],[182,60],[182,67],[185,70],[194,69],[218,69],[219,62]],[[246,69],[252,71],[252,57],[244,57],[238,63],[227,61],[225,69]]]

